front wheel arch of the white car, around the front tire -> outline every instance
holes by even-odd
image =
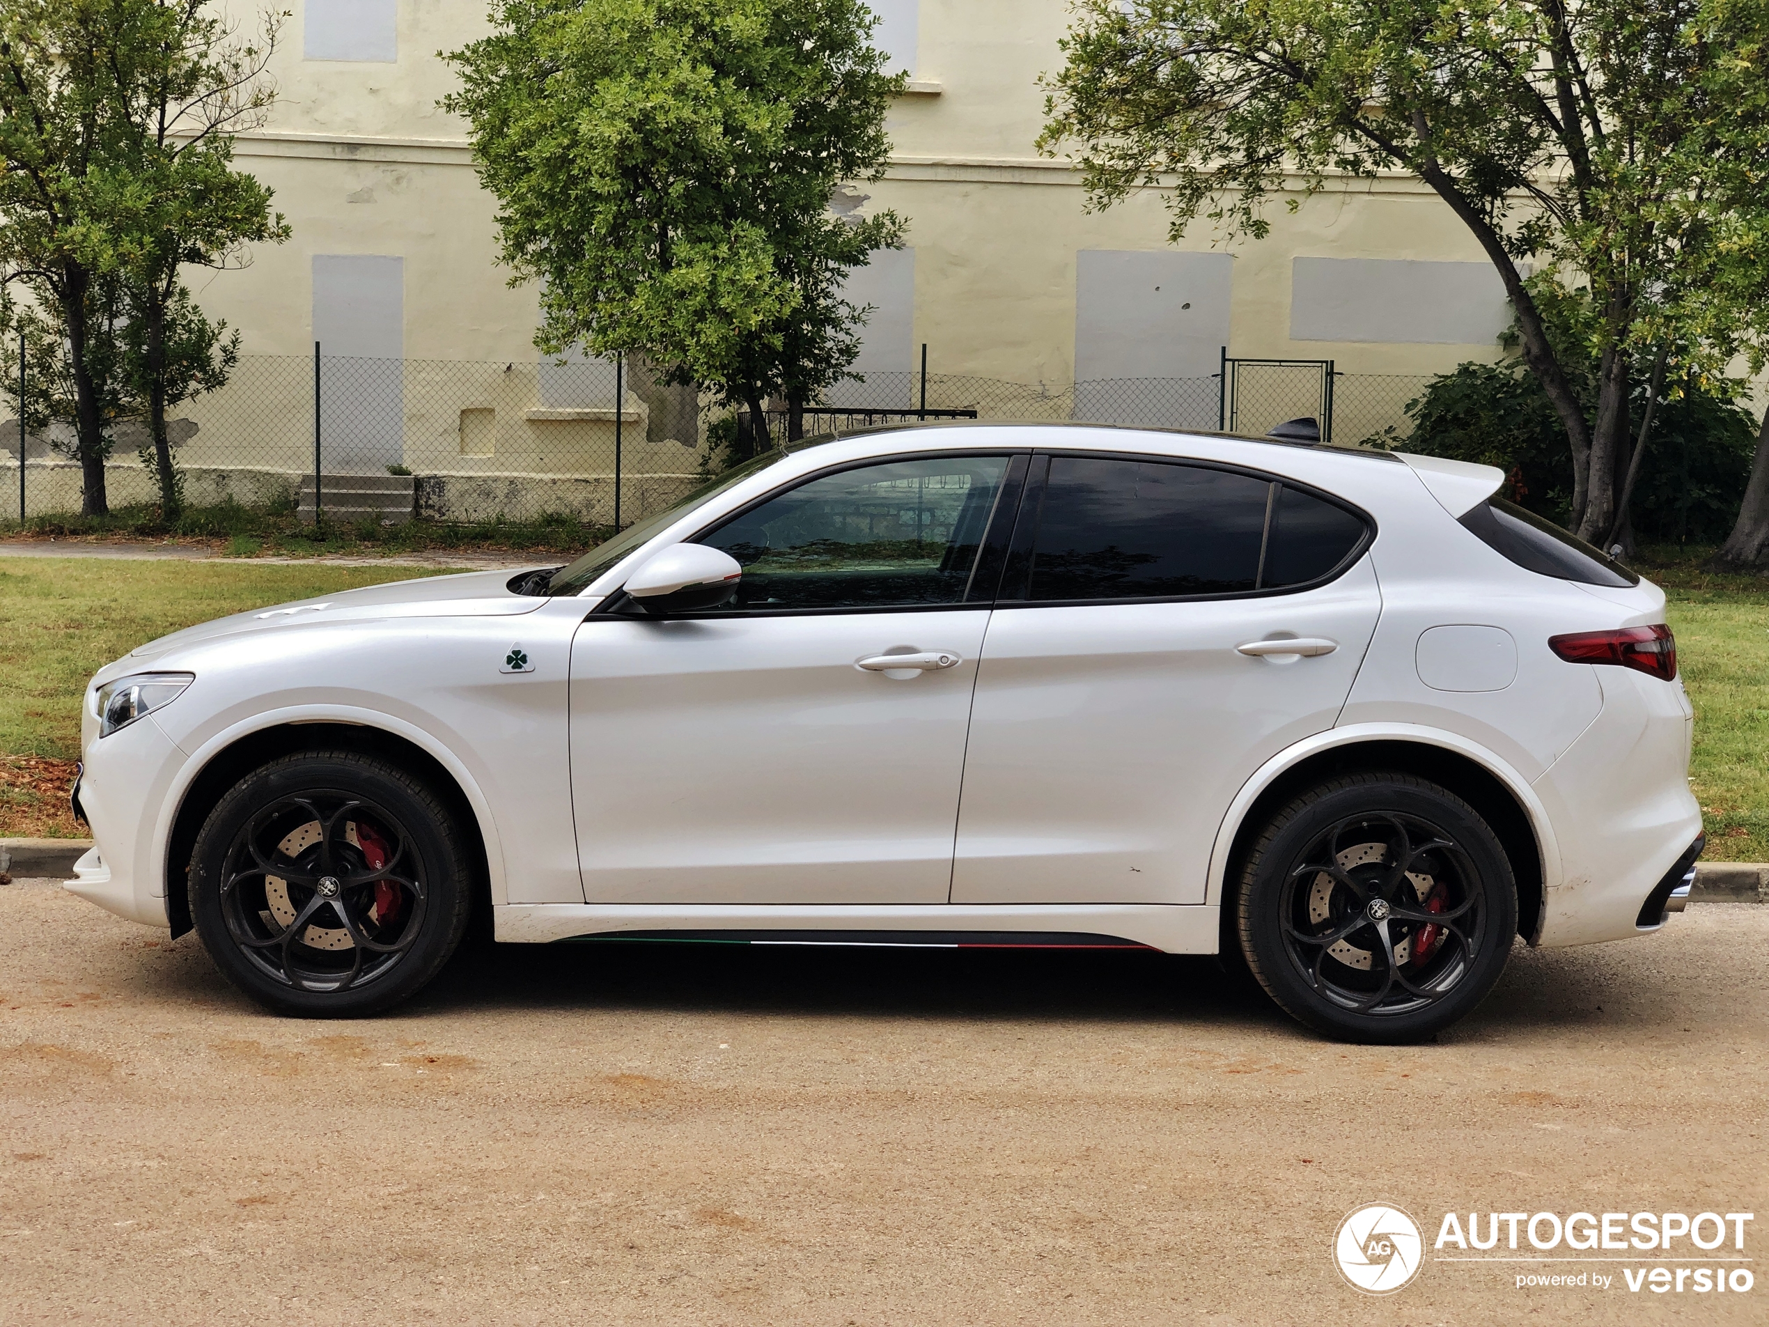
[[[379,756],[398,763],[430,784],[449,802],[456,825],[465,832],[467,851],[474,869],[474,922],[490,925],[497,853],[495,828],[485,809],[485,800],[472,779],[453,761],[428,750],[412,736],[394,733],[368,722],[347,718],[281,718],[248,733],[218,740],[212,748],[193,761],[195,773],[186,782],[165,832],[166,920],[177,940],[191,929],[189,860],[196,835],[230,787],[253,770],[304,750],[348,750]]]

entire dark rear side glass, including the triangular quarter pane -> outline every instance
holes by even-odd
[[[1291,485],[1120,456],[1053,456],[1033,529],[1030,556],[1015,563],[1024,580],[1007,586],[1005,598],[1074,603],[1286,589],[1330,577],[1367,538],[1360,517]]]

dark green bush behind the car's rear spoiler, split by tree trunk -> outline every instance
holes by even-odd
[[[1631,403],[1640,432],[1645,384]],[[1516,361],[1459,364],[1406,403],[1412,432],[1380,446],[1451,456],[1505,471],[1505,495],[1566,525],[1573,511],[1573,453],[1541,384]],[[1757,449],[1757,421],[1734,396],[1689,382],[1661,402],[1635,485],[1635,538],[1719,543],[1732,531]]]

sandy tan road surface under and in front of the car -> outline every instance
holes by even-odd
[[[44,881],[0,925],[9,1327],[1769,1320],[1760,1277],[1518,1290],[1429,1249],[1449,1210],[1769,1242],[1769,908],[1520,948],[1406,1049],[1198,959],[479,948],[295,1023]],[[1332,1260],[1376,1200],[1428,1228],[1390,1299]]]

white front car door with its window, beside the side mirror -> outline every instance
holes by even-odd
[[[729,607],[591,616],[571,646],[584,897],[946,902],[994,589],[978,563],[1024,464],[814,476],[697,536],[743,564]]]

